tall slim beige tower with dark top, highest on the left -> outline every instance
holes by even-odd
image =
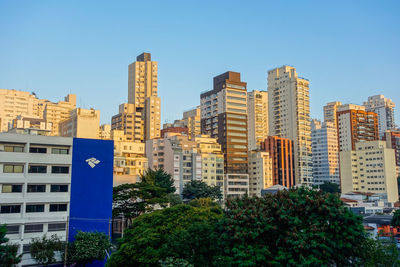
[[[160,137],[161,101],[157,96],[157,62],[150,53],[143,53],[129,65],[128,103],[140,113],[144,139]]]

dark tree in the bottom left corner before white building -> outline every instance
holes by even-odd
[[[18,246],[7,244],[7,227],[0,225],[0,266],[12,267],[21,261],[21,255],[18,255]]]

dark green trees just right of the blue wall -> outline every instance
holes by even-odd
[[[123,214],[126,218],[135,218],[151,211],[155,205],[165,207],[169,194],[175,192],[174,181],[170,174],[162,169],[148,169],[136,184],[122,184],[113,189],[113,216]]]

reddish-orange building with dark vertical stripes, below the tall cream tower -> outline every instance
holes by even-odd
[[[296,166],[293,141],[287,138],[268,136],[261,143],[261,149],[268,152],[272,164],[272,184],[290,188],[296,184]]]

